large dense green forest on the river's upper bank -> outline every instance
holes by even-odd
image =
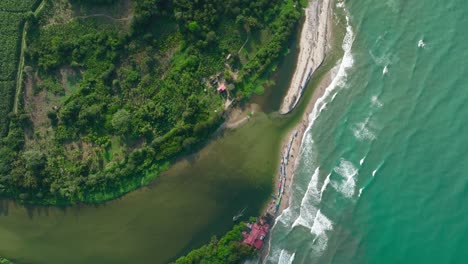
[[[262,93],[301,16],[296,0],[45,4],[24,17],[17,114],[17,46],[3,41],[19,43],[23,20],[8,13],[0,28],[12,33],[0,40],[0,60],[11,57],[0,69],[0,194],[45,204],[101,202],[154,179],[220,125],[226,102]]]

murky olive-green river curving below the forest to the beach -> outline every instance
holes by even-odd
[[[332,54],[317,70],[291,114],[276,114],[279,103],[262,104],[264,112],[122,198],[62,208],[0,201],[0,255],[17,263],[167,263],[225,233],[240,210],[246,208],[243,217],[258,215],[273,190],[281,139],[339,57]],[[277,71],[286,74],[277,86],[287,86],[291,64],[281,65]]]

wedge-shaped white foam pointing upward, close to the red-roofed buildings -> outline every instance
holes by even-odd
[[[317,187],[319,176],[319,168],[315,169],[314,174],[312,175],[307,191],[302,197],[301,208],[299,216],[294,221],[292,227],[301,225],[307,228],[312,228],[312,223],[314,220],[314,215],[317,212],[316,205],[319,202],[319,191]]]

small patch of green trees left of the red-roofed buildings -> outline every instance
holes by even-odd
[[[175,264],[236,264],[255,256],[255,249],[240,243],[242,231],[247,228],[244,223],[233,227],[221,239],[213,237],[201,248],[192,250],[186,256],[178,258]]]

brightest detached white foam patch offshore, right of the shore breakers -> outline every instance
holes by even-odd
[[[343,179],[340,182],[332,182],[332,186],[345,197],[352,198],[356,188],[355,176],[358,173],[357,168],[352,162],[341,159],[340,165],[335,167],[334,171],[343,177]]]

